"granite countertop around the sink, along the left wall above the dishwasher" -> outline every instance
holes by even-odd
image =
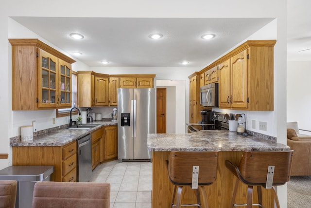
[[[34,136],[34,140],[20,141],[18,139],[10,139],[10,146],[25,147],[25,146],[64,146],[72,141],[75,141],[90,132],[100,129],[103,126],[117,125],[117,123],[107,120],[94,121],[87,124],[98,124],[98,126],[90,129],[66,129],[67,127],[57,129],[52,132],[47,132],[41,135]]]

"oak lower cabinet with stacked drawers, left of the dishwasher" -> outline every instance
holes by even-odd
[[[51,181],[76,182],[77,144],[12,147],[13,166],[54,166]]]

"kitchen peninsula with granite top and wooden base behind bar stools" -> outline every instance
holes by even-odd
[[[200,131],[186,134],[148,134],[147,147],[152,151],[152,208],[170,207],[173,185],[167,172],[170,151],[219,151],[216,181],[206,186],[207,200],[211,208],[228,208],[234,189],[235,177],[225,167],[225,160],[238,164],[243,151],[289,151],[286,145],[229,131]],[[239,185],[236,203],[246,202],[246,188]],[[196,203],[195,192],[185,187],[182,203]],[[254,200],[256,201],[256,190]],[[257,194],[256,194],[257,195]],[[263,205],[273,207],[271,189],[263,191]]]

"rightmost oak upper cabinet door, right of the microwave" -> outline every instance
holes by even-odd
[[[231,107],[247,108],[247,49],[231,57]]]

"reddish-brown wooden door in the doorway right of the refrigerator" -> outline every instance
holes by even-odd
[[[166,88],[156,88],[156,133],[166,133]]]

